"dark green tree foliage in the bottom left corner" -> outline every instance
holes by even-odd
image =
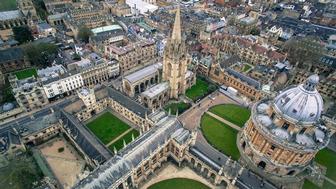
[[[0,168],[0,188],[26,189],[36,188],[43,174],[32,156],[20,155],[11,160],[9,165]],[[37,183],[36,183],[37,182]]]

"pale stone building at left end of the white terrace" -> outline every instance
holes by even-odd
[[[42,83],[34,76],[18,80],[16,76],[9,77],[14,97],[20,107],[26,111],[42,108],[48,104],[47,95],[44,92]]]

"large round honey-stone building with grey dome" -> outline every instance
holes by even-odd
[[[304,177],[304,170],[330,138],[320,122],[323,100],[316,90],[318,81],[312,75],[274,100],[254,104],[237,139],[242,160],[250,168],[271,180],[294,182]]]

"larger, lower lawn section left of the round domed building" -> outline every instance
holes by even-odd
[[[239,159],[240,153],[236,145],[238,131],[208,114],[202,116],[201,129],[204,137],[213,147],[234,160]]]

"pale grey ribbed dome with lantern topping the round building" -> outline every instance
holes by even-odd
[[[317,75],[310,76],[304,84],[281,92],[274,99],[274,107],[288,121],[303,125],[317,122],[323,111],[323,99],[316,90]]]

